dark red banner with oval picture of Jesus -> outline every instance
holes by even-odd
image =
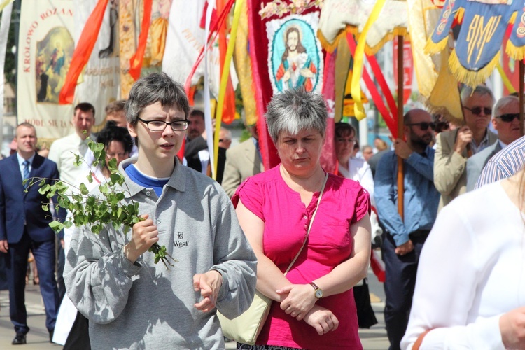
[[[248,40],[265,169],[279,164],[264,113],[274,93],[304,87],[322,91],[324,57],[316,33],[321,1],[248,1]]]

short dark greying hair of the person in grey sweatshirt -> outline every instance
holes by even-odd
[[[142,111],[149,105],[160,102],[162,106],[176,106],[188,118],[190,104],[181,83],[166,73],[151,73],[134,83],[126,102],[126,119],[136,125]]]

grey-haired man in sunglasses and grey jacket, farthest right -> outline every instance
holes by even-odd
[[[489,159],[521,136],[519,132],[519,99],[517,97],[505,96],[498,100],[494,106],[492,125],[494,129],[498,130],[498,142],[468,158],[467,191],[474,190],[476,181]]]

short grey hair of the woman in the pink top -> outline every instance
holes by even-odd
[[[328,111],[321,94],[300,90],[286,90],[275,94],[265,114],[269,136],[276,144],[279,134],[286,131],[299,134],[314,129],[324,137]]]

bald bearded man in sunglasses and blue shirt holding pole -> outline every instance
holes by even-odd
[[[432,228],[440,193],[434,186],[434,154],[428,146],[435,124],[422,109],[405,117],[407,141],[396,139],[394,151],[379,160],[374,178],[374,199],[383,223],[382,256],[386,269],[384,319],[390,349],[399,344],[408,324],[421,248]],[[405,169],[404,216],[398,214],[398,156]]]

